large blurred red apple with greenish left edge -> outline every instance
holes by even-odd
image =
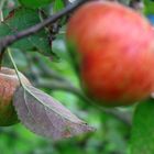
[[[88,2],[72,16],[66,33],[81,85],[95,102],[129,106],[154,90],[154,33],[130,8]]]

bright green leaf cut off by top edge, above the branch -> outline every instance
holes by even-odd
[[[19,0],[20,3],[30,9],[37,9],[50,4],[53,0]]]

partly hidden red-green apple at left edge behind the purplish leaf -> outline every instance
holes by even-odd
[[[30,81],[20,73],[23,84],[30,85]],[[12,105],[13,95],[20,81],[14,69],[2,67],[0,70],[0,127],[8,127],[18,123],[18,116]]]

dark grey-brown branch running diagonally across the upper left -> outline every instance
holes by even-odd
[[[33,25],[26,30],[23,30],[19,33],[15,33],[14,35],[8,35],[0,40],[0,53],[6,50],[7,46],[13,44],[14,42],[26,37],[29,35],[35,34],[36,32],[41,31],[43,28],[50,25],[51,23],[56,22],[58,19],[63,18],[64,15],[73,12],[75,9],[77,9],[79,6],[85,3],[87,0],[78,0],[74,2],[73,4],[67,6],[64,10],[59,11],[58,13],[50,16],[48,19],[44,20],[43,22]]]

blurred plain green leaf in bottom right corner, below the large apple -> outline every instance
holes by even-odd
[[[131,154],[154,154],[154,100],[140,103],[133,118]]]

